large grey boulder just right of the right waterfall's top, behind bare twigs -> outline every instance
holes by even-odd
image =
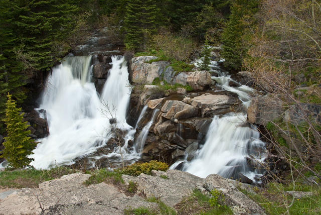
[[[247,109],[247,119],[250,123],[266,126],[269,121],[282,117],[285,111],[282,104],[281,99],[270,94],[255,97]]]

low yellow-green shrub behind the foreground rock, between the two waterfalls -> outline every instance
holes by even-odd
[[[141,173],[150,175],[151,170],[166,171],[168,168],[169,166],[166,163],[152,160],[148,163],[134,163],[130,166],[126,166],[121,170],[121,173],[131,176],[138,176]]]

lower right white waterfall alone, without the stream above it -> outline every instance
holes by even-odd
[[[224,177],[235,178],[235,173],[241,172],[253,179],[256,172],[248,167],[245,156],[252,153],[255,155],[252,152],[255,150],[264,151],[264,143],[257,140],[258,132],[244,126],[244,123],[246,116],[242,114],[232,113],[221,118],[215,116],[203,148],[184,170],[200,177],[218,173]],[[258,145],[251,151],[250,147],[253,144]]]

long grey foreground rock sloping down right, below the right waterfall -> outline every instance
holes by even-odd
[[[207,176],[204,187],[207,190],[217,189],[221,191],[222,194],[224,194],[227,205],[231,206],[232,208],[237,206],[242,211],[244,209],[244,214],[265,214],[259,205],[257,205],[245,194],[241,193],[227,179],[219,175],[211,174]]]

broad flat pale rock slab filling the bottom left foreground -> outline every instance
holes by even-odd
[[[153,206],[137,194],[126,196],[114,185],[100,183],[85,186],[90,175],[74,173],[45,181],[39,188],[17,190],[0,201],[2,214],[124,214],[133,208]],[[41,209],[42,207],[42,209]]]

